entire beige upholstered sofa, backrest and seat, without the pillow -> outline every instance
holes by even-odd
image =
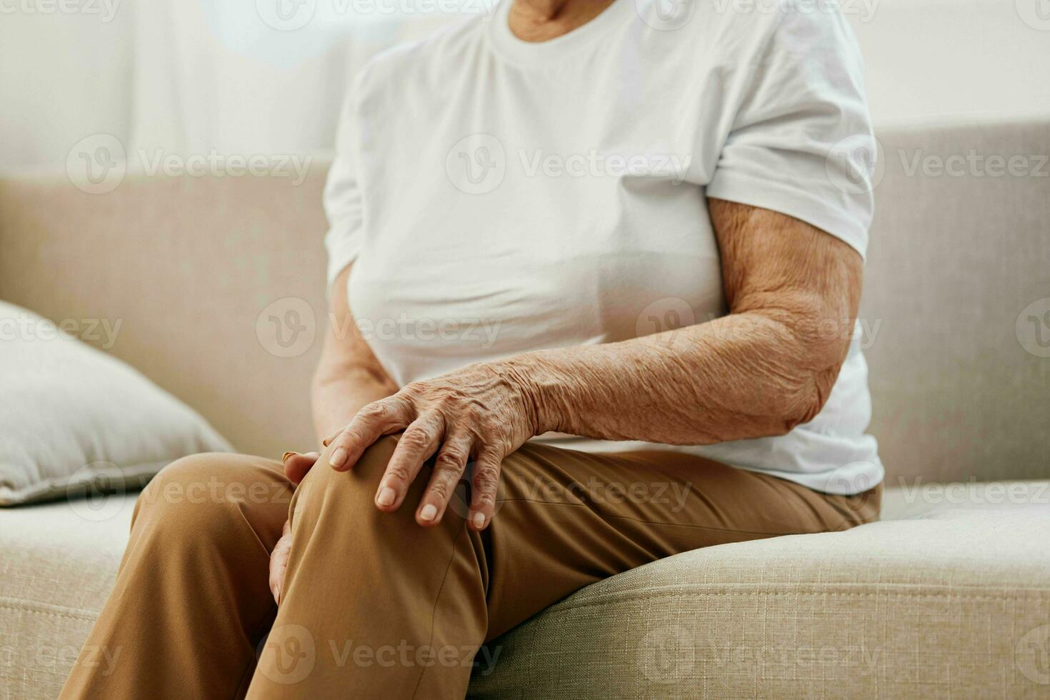
[[[1050,121],[879,137],[862,320],[882,522],[591,586],[501,638],[472,695],[1050,697]],[[965,174],[938,174],[971,152]],[[1028,174],[993,175],[992,155],[1027,158]],[[129,176],[104,195],[0,182],[0,298],[122,319],[111,352],[238,448],[308,447],[324,170],[299,186]],[[295,342],[270,322],[292,307]],[[133,500],[0,511],[0,697],[57,695]]]

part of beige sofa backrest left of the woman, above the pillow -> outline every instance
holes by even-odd
[[[327,170],[316,163],[297,186],[128,174],[105,194],[64,176],[0,181],[0,299],[74,319],[82,335],[96,319],[119,327],[107,349],[239,450],[312,449]],[[279,325],[287,312],[294,327]],[[105,326],[94,331],[86,340],[105,345]],[[296,344],[282,347],[293,333]]]

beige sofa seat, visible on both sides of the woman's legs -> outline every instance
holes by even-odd
[[[497,639],[471,697],[1047,697],[1050,506],[1025,488],[1028,502],[982,508],[890,489],[886,514],[905,519],[614,576]],[[0,511],[10,697],[57,696],[112,586],[133,499]]]

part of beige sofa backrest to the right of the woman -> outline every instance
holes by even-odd
[[[878,137],[860,316],[889,482],[1046,479],[1050,118]]]

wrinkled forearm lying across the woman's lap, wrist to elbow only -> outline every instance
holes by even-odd
[[[705,445],[782,434],[816,416],[848,335],[806,325],[791,311],[731,314],[501,364],[526,387],[538,432]]]

